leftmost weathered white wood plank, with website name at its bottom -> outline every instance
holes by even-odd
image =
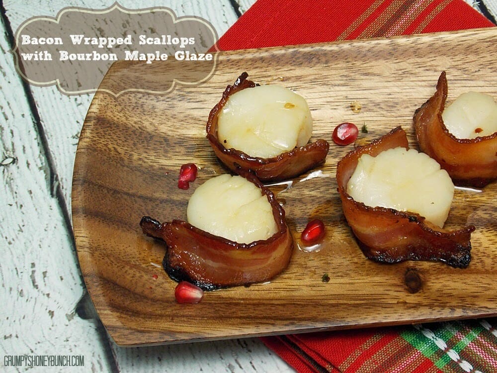
[[[95,323],[75,316],[83,286],[72,237],[50,196],[50,171],[3,31],[2,25],[1,355],[83,355],[84,367],[74,372],[107,370]]]

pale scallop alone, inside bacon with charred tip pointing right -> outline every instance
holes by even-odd
[[[363,154],[347,193],[367,206],[416,212],[441,228],[449,214],[454,185],[435,160],[415,149],[399,147],[376,157]]]

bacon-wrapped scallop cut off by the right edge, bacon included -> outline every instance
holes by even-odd
[[[470,93],[462,103],[454,102],[446,116],[447,91],[442,72],[434,95],[414,113],[419,148],[435,159],[456,185],[484,187],[497,179],[497,104],[485,95]],[[453,123],[452,129],[444,118],[447,126],[449,121]],[[459,133],[461,138],[456,137]]]

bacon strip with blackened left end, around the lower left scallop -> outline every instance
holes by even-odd
[[[186,221],[161,224],[144,216],[140,222],[143,233],[166,242],[163,266],[171,279],[186,280],[212,290],[264,282],[287,267],[293,253],[293,239],[285,212],[268,188],[255,177],[244,176],[267,196],[278,231],[267,240],[243,244],[207,233]]]

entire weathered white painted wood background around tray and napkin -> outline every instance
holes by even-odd
[[[113,0],[0,2],[0,370],[6,355],[83,355],[71,372],[290,372],[258,339],[121,348],[108,338],[85,295],[71,229],[71,179],[92,95],[26,85],[13,67],[11,37],[25,19],[67,6]],[[167,6],[208,19],[222,35],[254,0],[121,0],[127,8]],[[468,1],[494,22],[497,0]],[[483,5],[483,6],[482,6]],[[80,301],[81,299],[81,301]],[[33,368],[30,372],[58,372]]]

